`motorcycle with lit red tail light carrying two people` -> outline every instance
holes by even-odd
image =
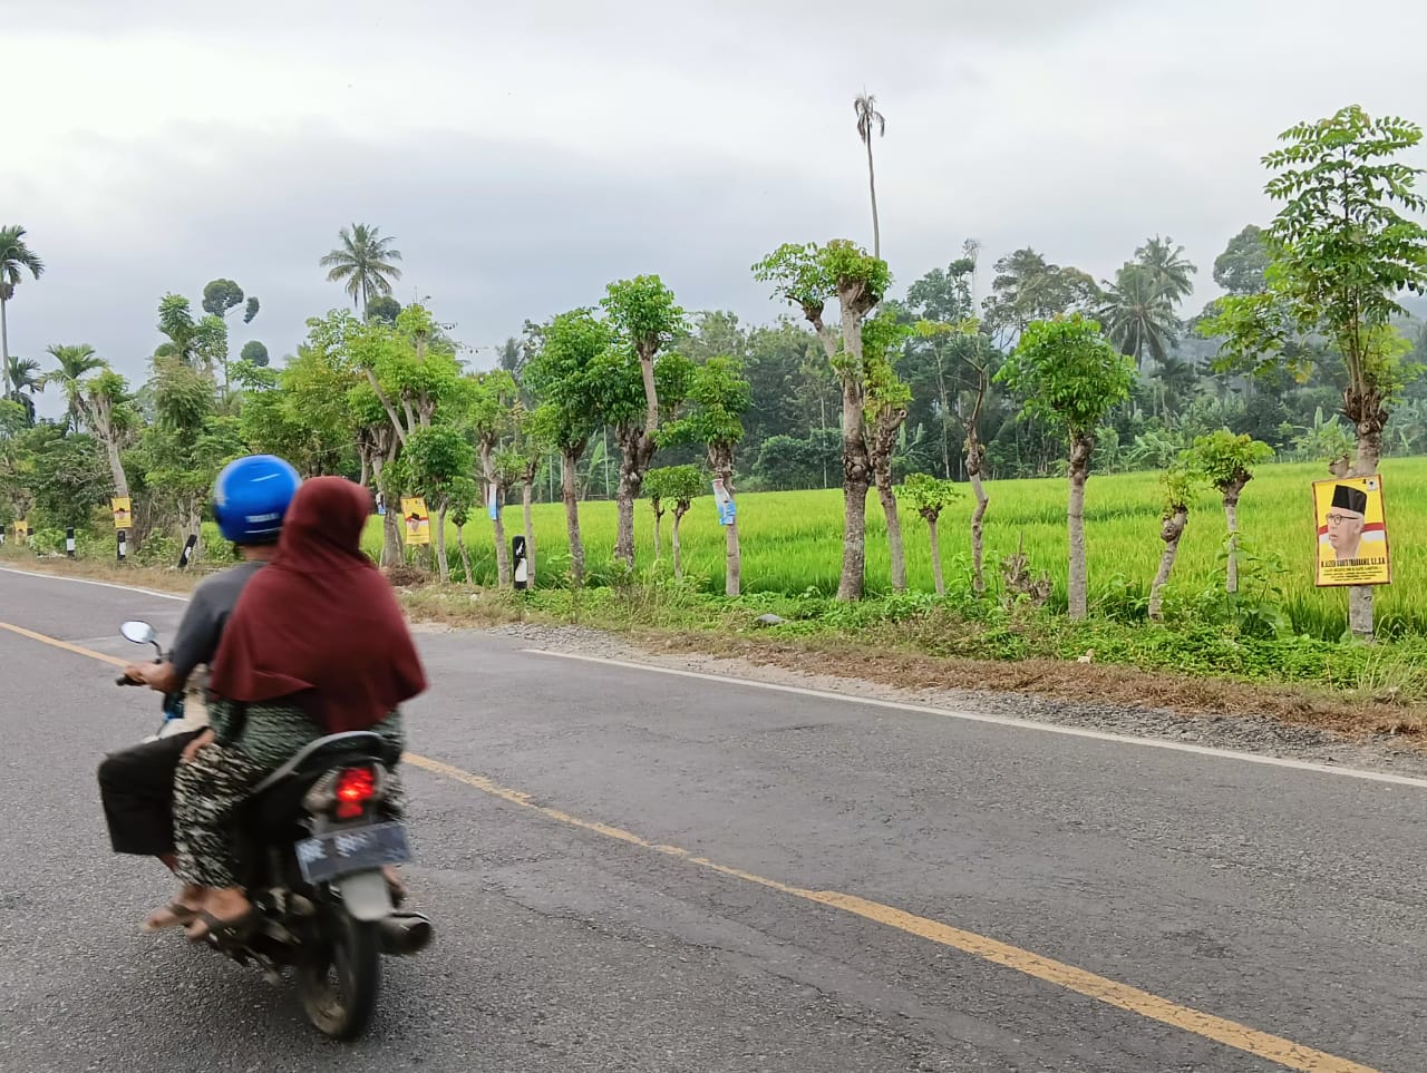
[[[154,628],[124,622],[120,634],[153,645]],[[120,676],[121,686],[141,685]],[[156,736],[184,718],[183,693],[164,695]],[[320,738],[260,782],[238,812],[238,879],[257,910],[241,940],[204,940],[274,986],[291,970],[303,1012],[321,1033],[360,1036],[381,989],[381,957],[431,943],[431,922],[398,912],[382,872],[411,859],[405,829],[382,816],[387,773],[400,761],[381,735]]]

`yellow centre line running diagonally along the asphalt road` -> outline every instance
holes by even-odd
[[[106,663],[124,663],[123,659],[107,656],[101,652],[94,652],[78,645],[71,645],[66,641],[46,636],[44,634],[36,634],[21,626],[10,625],[9,622],[0,622],[0,628],[9,629],[10,632],[19,634],[24,638],[30,638],[31,641],[61,648],[67,652],[100,659]],[[1233,1047],[1234,1050],[1244,1052],[1246,1054],[1266,1059],[1267,1062],[1277,1063],[1284,1069],[1299,1070],[1299,1073],[1378,1073],[1378,1070],[1374,1070],[1370,1066],[1361,1066],[1356,1062],[1349,1062],[1347,1059],[1340,1059],[1334,1054],[1327,1054],[1321,1050],[1303,1046],[1301,1043],[1294,1043],[1293,1040],[1283,1039],[1281,1036],[1273,1036],[1267,1032],[1259,1032],[1257,1029],[1250,1029],[1246,1024],[1239,1024],[1237,1022],[1232,1022],[1224,1017],[1216,1017],[1212,1013],[1204,1013],[1189,1006],[1180,1006],[1179,1003],[1162,999],[1160,996],[1140,990],[1139,987],[1132,987],[1126,983],[1097,976],[1096,973],[1077,969],[1076,966],[1066,965],[1065,962],[1042,957],[1030,950],[1002,943],[996,939],[977,935],[976,932],[966,932],[960,927],[942,923],[940,920],[916,916],[902,909],[896,909],[895,906],[882,905],[880,902],[869,902],[863,897],[858,897],[856,895],[843,895],[838,890],[806,890],[803,888],[781,883],[776,879],[768,879],[766,876],[721,865],[715,860],[709,860],[708,858],[695,856],[689,850],[681,849],[679,846],[651,842],[639,835],[635,835],[634,832],[625,830],[624,828],[615,828],[609,823],[572,816],[568,812],[549,808],[548,805],[537,805],[535,799],[524,790],[501,786],[484,775],[475,775],[474,772],[464,771],[462,768],[455,768],[450,763],[442,763],[441,761],[432,761],[428,756],[408,752],[402,759],[414,768],[421,768],[432,775],[441,775],[447,779],[464,783],[465,786],[478,789],[482,793],[488,793],[509,805],[539,813],[541,816],[558,823],[579,828],[581,830],[589,830],[595,835],[616,839],[639,849],[648,849],[655,853],[678,858],[689,865],[716,872],[722,876],[753,883],[789,897],[798,897],[805,902],[828,906],[829,909],[839,909],[845,913],[873,920],[875,923],[886,927],[895,927],[906,935],[915,935],[920,939],[926,939],[928,942],[933,942],[953,950],[960,950],[962,953],[970,955],[972,957],[977,957],[983,962],[999,965],[1043,983],[1062,987],[1087,999],[1095,999],[1096,1002],[1103,1002],[1109,1006],[1139,1014],[1147,1020],[1154,1020],[1162,1024],[1193,1033],[1194,1036],[1213,1040],[1214,1043],[1222,1043],[1226,1047]]]

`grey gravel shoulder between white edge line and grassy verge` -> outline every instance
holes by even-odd
[[[451,632],[452,626],[420,624],[418,631]],[[585,626],[508,624],[478,632],[505,636],[525,648],[568,655],[619,659],[658,668],[694,671],[725,678],[743,678],[771,685],[818,689],[853,698],[925,705],[955,712],[979,712],[1027,722],[1075,726],[1134,738],[1182,742],[1214,749],[1233,749],[1340,768],[1390,772],[1427,778],[1427,752],[1417,738],[1388,733],[1346,735],[1316,726],[1284,722],[1273,715],[1226,715],[1186,712],[1142,705],[1067,701],[1035,692],[987,689],[918,688],[862,676],[831,673],[825,661],[809,654],[806,661],[773,654],[766,658],[722,656],[686,651],[686,642],[641,644],[622,635]],[[671,651],[674,649],[674,651]],[[798,665],[801,662],[801,665]],[[893,675],[895,676],[895,675]]]

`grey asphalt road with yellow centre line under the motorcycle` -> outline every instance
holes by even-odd
[[[181,612],[0,572],[0,622],[103,654]],[[332,1044],[138,932],[167,876],[94,766],[157,696],[0,629],[0,1070],[1427,1069],[1427,788],[420,641],[437,940]]]

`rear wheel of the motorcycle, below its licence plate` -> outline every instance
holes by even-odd
[[[375,925],[331,906],[313,929],[297,966],[307,1019],[324,1036],[350,1040],[371,1022],[381,990],[381,945]]]

